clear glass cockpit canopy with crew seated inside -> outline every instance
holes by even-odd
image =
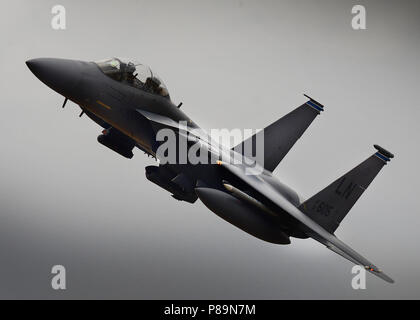
[[[152,70],[141,63],[112,58],[95,62],[108,77],[128,85],[170,99],[168,89]]]

